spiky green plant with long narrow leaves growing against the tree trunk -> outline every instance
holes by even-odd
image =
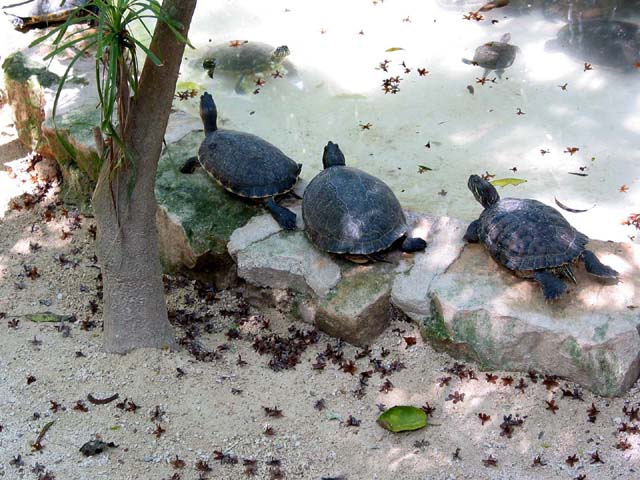
[[[62,1],[64,4],[64,0]],[[87,25],[87,16],[91,22]],[[140,68],[137,49],[156,65],[162,61],[131,32],[140,25],[151,38],[150,22],[164,22],[176,38],[189,44],[180,33],[181,25],[162,9],[156,0],[91,0],[75,9],[61,25],[35,40],[31,46],[51,40],[53,49],[44,58],[53,59],[71,50],[71,61],[61,77],[53,102],[55,125],[58,100],[73,66],[87,52],[95,51],[95,74],[101,112],[100,130],[106,136],[102,158],[109,160],[111,172],[126,160],[122,133],[126,126],[129,104],[138,91]]]

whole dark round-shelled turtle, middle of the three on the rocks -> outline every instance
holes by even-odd
[[[424,250],[422,238],[407,237],[400,202],[380,179],[345,166],[340,147],[329,142],[322,156],[324,170],[304,191],[302,218],[307,237],[316,247],[360,262],[403,239],[404,252]]]

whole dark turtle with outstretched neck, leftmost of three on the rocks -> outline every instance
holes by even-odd
[[[296,214],[276,203],[274,196],[291,191],[302,164],[266,140],[246,132],[219,129],[218,111],[208,92],[200,97],[205,138],[197,158],[181,168],[190,173],[199,163],[225,190],[245,198],[264,200],[273,218],[285,230],[296,229]]]

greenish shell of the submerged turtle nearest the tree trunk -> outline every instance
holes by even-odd
[[[275,47],[262,42],[245,42],[237,47],[225,43],[207,51],[205,61],[214,60],[216,70],[221,72],[260,73],[274,69],[279,63],[272,62],[275,50]]]

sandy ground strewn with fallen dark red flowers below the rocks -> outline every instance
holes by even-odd
[[[42,194],[47,169],[31,169],[6,107],[0,118],[0,181],[14,192],[0,219],[0,477],[640,476],[638,385],[607,399],[534,372],[481,372],[401,318],[363,352],[250,307],[242,286],[166,277],[180,350],[101,352],[94,221],[61,204],[55,182]],[[46,311],[67,317],[27,316]],[[383,430],[380,410],[398,404],[433,408],[429,426]],[[90,440],[112,446],[85,456]]]

